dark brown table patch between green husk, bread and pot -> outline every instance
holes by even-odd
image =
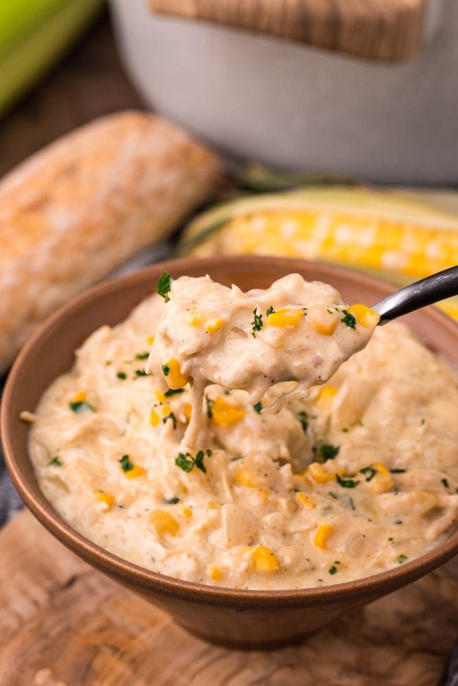
[[[103,12],[76,47],[0,119],[0,176],[76,126],[141,107]]]

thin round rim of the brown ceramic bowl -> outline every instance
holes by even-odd
[[[399,567],[388,569],[380,573],[363,577],[356,580],[342,582],[340,584],[324,585],[322,587],[299,588],[299,589],[232,589],[227,587],[210,586],[196,582],[190,582],[165,576],[128,560],[119,558],[115,554],[93,543],[82,534],[73,529],[60,514],[52,508],[51,504],[45,499],[39,488],[34,493],[34,488],[23,475],[20,460],[18,460],[12,444],[12,425],[14,418],[11,415],[10,405],[16,392],[16,386],[21,380],[23,366],[27,363],[30,356],[34,355],[34,347],[37,342],[47,336],[49,329],[56,327],[62,320],[67,320],[81,311],[84,305],[97,300],[100,296],[117,292],[127,285],[136,282],[143,282],[146,279],[157,279],[161,272],[167,270],[180,275],[186,274],[187,270],[199,268],[203,272],[205,265],[211,268],[228,266],[233,263],[234,268],[240,265],[268,268],[275,264],[288,272],[294,272],[304,268],[325,268],[332,275],[343,279],[350,279],[353,283],[358,283],[361,287],[371,285],[378,287],[386,294],[398,289],[399,285],[377,279],[366,272],[359,272],[349,268],[328,263],[325,261],[309,261],[300,258],[288,257],[264,257],[264,256],[244,256],[244,255],[225,255],[206,258],[184,257],[182,259],[172,259],[155,263],[141,270],[130,274],[118,276],[115,279],[103,281],[95,285],[68,303],[60,307],[54,314],[34,332],[27,340],[21,352],[16,357],[3,391],[3,399],[0,408],[0,435],[2,438],[5,463],[10,472],[12,482],[19,491],[27,508],[40,521],[51,534],[61,543],[89,562],[93,567],[104,571],[108,576],[122,580],[130,587],[144,589],[145,591],[157,591],[164,596],[174,596],[190,602],[204,603],[212,606],[231,606],[234,608],[255,608],[258,610],[268,610],[271,608],[292,608],[294,606],[317,606],[330,605],[335,602],[345,602],[347,600],[358,600],[363,602],[366,598],[376,598],[396,590],[408,584],[420,576],[439,567],[447,560],[450,560],[458,552],[458,529],[453,530],[447,537],[422,555],[410,560]],[[424,311],[424,316],[432,319],[442,329],[445,327],[457,337],[458,324],[451,318],[443,314],[435,307],[428,307]],[[27,460],[30,457],[27,454]]]

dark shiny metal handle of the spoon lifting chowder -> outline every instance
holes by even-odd
[[[378,323],[386,324],[415,309],[433,305],[439,300],[456,295],[458,295],[458,265],[411,283],[391,296],[383,298],[372,309],[380,314]]]

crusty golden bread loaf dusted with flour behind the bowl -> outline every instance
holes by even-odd
[[[0,182],[0,372],[37,324],[211,195],[214,154],[126,112],[62,137]]]

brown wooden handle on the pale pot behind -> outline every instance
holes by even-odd
[[[156,12],[281,36],[371,60],[420,47],[425,0],[149,0]]]

